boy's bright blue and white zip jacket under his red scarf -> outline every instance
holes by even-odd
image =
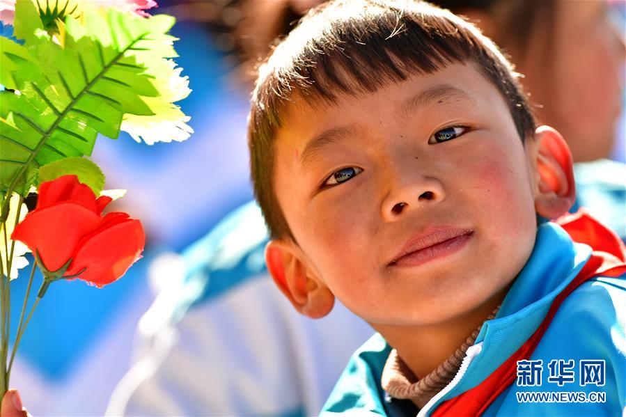
[[[613,239],[613,247],[623,251],[622,242],[617,237]],[[408,400],[389,398],[382,390],[382,368],[391,347],[376,334],[352,356],[322,415],[407,416],[417,412],[418,416],[432,415],[446,400],[483,383],[526,343],[546,317],[554,299],[574,280],[591,255],[590,246],[573,242],[561,226],[542,224],[531,258],[517,276],[496,317],[483,324],[453,381],[423,409],[417,410]],[[618,258],[613,261],[620,262]],[[529,362],[518,363],[517,380],[497,395],[483,415],[623,415],[626,407],[626,268],[618,269],[618,274],[590,278],[565,297],[528,358]],[[616,275],[615,269],[608,275]],[[559,360],[565,361],[563,365]],[[556,364],[550,365],[551,361]],[[595,374],[599,368],[592,370],[598,363],[602,363],[602,375]],[[526,372],[530,367],[532,374]],[[537,370],[542,372],[537,373]],[[559,376],[563,377],[561,384]],[[602,376],[602,380],[595,380],[597,376]],[[530,381],[531,377],[535,380]],[[588,381],[595,381],[595,384],[586,383]]]

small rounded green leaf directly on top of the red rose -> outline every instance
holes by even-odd
[[[62,175],[76,175],[79,182],[87,184],[99,195],[104,189],[104,174],[91,160],[81,157],[59,159],[39,168],[39,184],[56,180]]]

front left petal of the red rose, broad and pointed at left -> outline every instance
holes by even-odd
[[[56,271],[72,258],[78,242],[97,228],[100,217],[74,202],[56,203],[26,214],[11,239],[38,251],[49,271]]]

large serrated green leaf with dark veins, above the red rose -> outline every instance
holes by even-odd
[[[98,133],[117,138],[124,115],[163,118],[147,100],[168,92],[155,72],[176,55],[171,17],[85,10],[84,24],[65,19],[63,47],[28,34],[41,22],[23,1],[25,45],[5,50],[0,39],[0,84],[19,91],[0,92],[0,192],[28,189],[40,166],[91,155]]]

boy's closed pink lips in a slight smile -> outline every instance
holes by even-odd
[[[461,249],[474,235],[462,228],[430,228],[409,239],[387,266],[415,266]]]

